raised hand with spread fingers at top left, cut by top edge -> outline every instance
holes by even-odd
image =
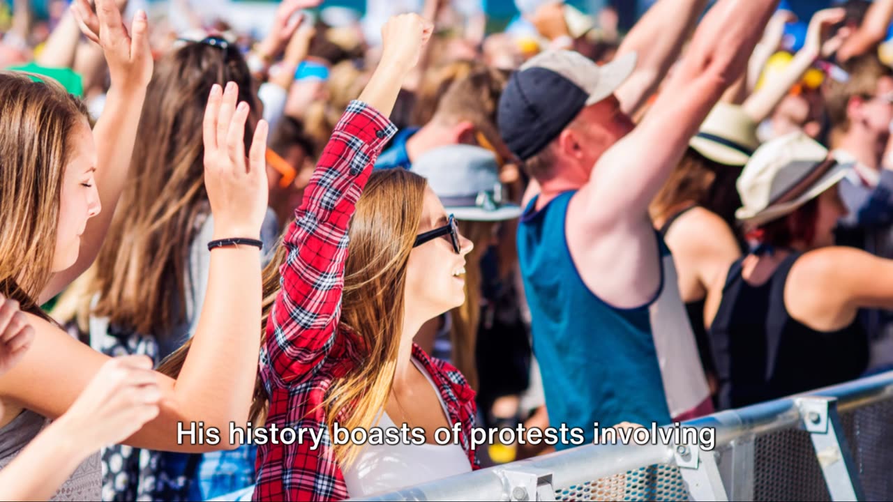
[[[84,35],[103,47],[112,84],[146,88],[153,70],[146,13],[138,11],[128,31],[116,0],[96,0],[96,13],[88,0],[73,0],[71,12]]]

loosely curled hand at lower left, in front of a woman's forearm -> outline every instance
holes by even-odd
[[[120,443],[154,419],[161,397],[151,359],[116,357],[103,364],[56,425],[95,451]]]

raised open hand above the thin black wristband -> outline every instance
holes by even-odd
[[[204,187],[214,215],[214,238],[258,238],[267,211],[266,121],[255,128],[248,159],[245,124],[250,107],[236,105],[238,85],[211,89],[204,109]]]

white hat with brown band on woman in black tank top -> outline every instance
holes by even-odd
[[[741,172],[738,193],[743,205],[735,216],[751,227],[777,220],[837,185],[852,166],[839,163],[802,131],[768,141]]]

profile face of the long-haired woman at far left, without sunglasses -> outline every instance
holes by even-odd
[[[78,261],[80,237],[87,221],[102,209],[94,180],[96,144],[87,121],[74,131],[70,145],[74,151],[63,172],[53,272],[66,270]]]

